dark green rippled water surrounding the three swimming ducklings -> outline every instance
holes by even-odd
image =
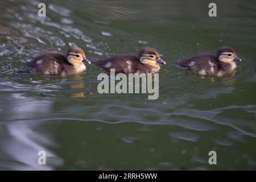
[[[0,2],[0,169],[256,169],[256,2]],[[18,74],[44,51],[87,57],[154,47],[167,61],[159,98],[99,94],[98,73]],[[243,62],[222,77],[172,64],[233,47]],[[47,165],[37,163],[46,151]],[[208,152],[217,152],[217,165]]]

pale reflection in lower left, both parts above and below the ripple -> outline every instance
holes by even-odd
[[[26,97],[22,94],[10,94],[9,100],[13,101],[6,110],[13,120],[12,122],[4,122],[1,126],[1,163],[0,169],[11,170],[49,170],[53,167],[63,165],[63,159],[58,158],[47,147],[55,147],[56,143],[48,133],[38,132],[37,125],[31,123],[21,123],[15,121],[21,117],[26,118],[27,115],[36,117],[37,115],[47,115],[51,108],[51,101],[36,100],[32,97]],[[45,151],[49,164],[38,164],[38,152]]]

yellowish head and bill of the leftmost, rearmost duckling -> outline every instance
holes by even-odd
[[[79,47],[71,47],[66,53],[68,63],[76,66],[82,62],[90,64],[90,61],[86,58],[84,51]]]

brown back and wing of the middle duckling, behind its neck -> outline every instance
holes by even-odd
[[[91,63],[106,71],[115,69],[116,73],[133,73],[138,58],[134,55],[115,55],[104,60],[90,59]]]

